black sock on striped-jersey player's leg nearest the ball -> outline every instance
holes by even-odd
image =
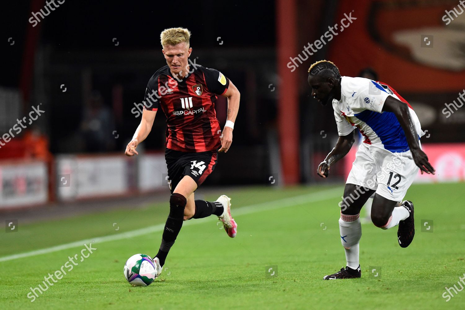
[[[179,231],[184,220],[184,208],[186,207],[186,197],[181,194],[174,193],[170,197],[170,213],[166,219],[165,229],[161,238],[160,249],[156,255],[160,261],[160,265],[165,264],[166,256],[178,237]]]

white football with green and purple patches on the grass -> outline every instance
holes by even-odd
[[[124,264],[124,277],[132,286],[147,286],[157,276],[153,259],[145,254],[135,254]]]

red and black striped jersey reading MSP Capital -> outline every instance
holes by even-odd
[[[193,72],[192,72],[193,71]],[[223,95],[229,79],[217,70],[191,66],[184,79],[173,78],[168,66],[159,69],[147,84],[144,109],[166,115],[166,147],[183,152],[205,152],[220,146],[216,95]]]

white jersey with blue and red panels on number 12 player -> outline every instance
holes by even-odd
[[[341,79],[341,99],[332,100],[339,136],[346,136],[357,127],[365,137],[363,142],[368,145],[376,145],[393,153],[408,151],[410,148],[404,130],[396,116],[392,112],[382,111],[389,96],[409,106],[420,139],[425,133],[421,130],[417,114],[391,86],[371,79],[348,76]]]

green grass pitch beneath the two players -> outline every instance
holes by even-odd
[[[362,277],[323,281],[345,265],[338,224],[342,189],[224,192],[232,198],[237,237],[227,237],[214,216],[185,222],[167,269],[147,287],[131,287],[123,265],[133,254],[156,253],[167,203],[34,224],[19,219],[17,232],[1,232],[0,308],[463,309],[465,292],[448,302],[442,295],[446,286],[460,289],[465,273],[465,184],[412,185],[406,196],[415,204],[412,244],[399,247],[397,228],[363,224]],[[216,194],[206,199],[223,192]],[[433,221],[432,232],[421,231],[421,220]],[[60,270],[68,256],[80,255],[81,240],[94,240],[97,250],[31,303],[30,288]],[[73,242],[59,251],[5,259]],[[373,269],[380,270],[378,277]]]

